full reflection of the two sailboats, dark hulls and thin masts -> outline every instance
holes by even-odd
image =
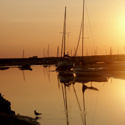
[[[59,82],[61,83],[61,88],[62,88],[62,95],[63,95],[63,101],[64,101],[64,109],[65,109],[65,115],[66,115],[66,124],[69,125],[69,113],[68,113],[68,98],[67,98],[67,88],[72,87],[73,92],[76,98],[76,102],[80,111],[80,117],[82,120],[83,125],[86,125],[86,107],[85,107],[85,91],[86,90],[93,90],[93,91],[99,91],[98,88],[94,87],[92,85],[92,81],[98,81],[98,82],[104,82],[107,81],[107,79],[99,78],[99,77],[78,77],[74,75],[73,72],[59,72],[58,73],[58,79]],[[87,79],[88,78],[88,79]],[[99,79],[99,80],[98,80]],[[83,95],[83,104],[81,106],[80,100],[78,98],[78,94],[75,88],[75,83],[80,82],[82,83],[82,95]],[[85,85],[85,83],[91,82],[91,86]]]

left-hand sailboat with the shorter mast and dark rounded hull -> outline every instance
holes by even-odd
[[[70,56],[66,54],[66,6],[64,12],[64,25],[61,46],[61,60],[57,63],[57,71],[69,71],[73,67],[73,63],[69,60]]]

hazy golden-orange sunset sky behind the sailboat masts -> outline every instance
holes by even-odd
[[[67,51],[74,52],[82,0],[0,0],[0,58],[56,56],[67,6]],[[80,44],[81,45],[81,44]],[[125,53],[125,1],[86,0],[84,55]],[[81,55],[81,47],[79,55]]]

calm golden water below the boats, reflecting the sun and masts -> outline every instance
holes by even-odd
[[[125,125],[124,71],[107,81],[64,86],[54,67],[32,68],[0,71],[0,92],[17,114],[35,117],[36,109],[41,125]]]

